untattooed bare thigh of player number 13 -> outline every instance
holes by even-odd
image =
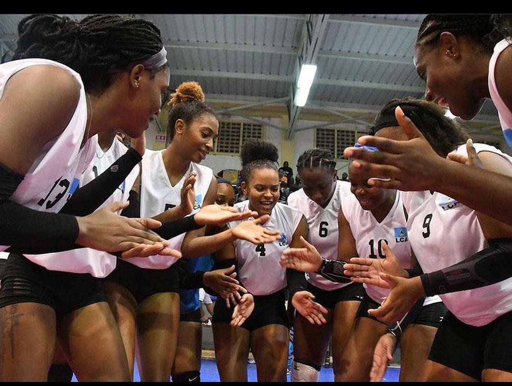
[[[106,302],[71,312],[59,320],[62,351],[79,381],[129,381],[126,353]]]

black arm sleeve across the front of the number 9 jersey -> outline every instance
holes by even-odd
[[[489,247],[469,258],[420,276],[426,296],[457,292],[512,277],[512,239],[489,240]]]

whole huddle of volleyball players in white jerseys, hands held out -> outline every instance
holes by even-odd
[[[512,146],[508,15],[428,15],[426,100],[393,99],[336,159],[312,148],[279,202],[279,150],[246,140],[241,194],[201,162],[219,118],[147,20],[31,15],[0,65],[3,381],[200,381],[198,289],[221,381],[512,379],[512,158],[446,107],[495,103]],[[108,37],[108,38],[106,38]],[[30,90],[28,92],[27,90]],[[170,142],[144,130],[168,109]],[[119,137],[132,138],[129,147]],[[509,326],[509,327],[507,327]]]

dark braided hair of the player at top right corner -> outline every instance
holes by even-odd
[[[436,44],[442,32],[451,32],[455,36],[469,35],[485,52],[492,54],[498,41],[512,36],[512,16],[429,14],[418,30],[416,47]]]

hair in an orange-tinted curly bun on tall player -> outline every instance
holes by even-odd
[[[168,106],[171,106],[168,126],[170,140],[174,138],[178,119],[183,120],[188,125],[203,114],[211,114],[217,118],[215,112],[204,102],[204,99],[203,89],[198,82],[183,82],[178,86],[167,103]]]

